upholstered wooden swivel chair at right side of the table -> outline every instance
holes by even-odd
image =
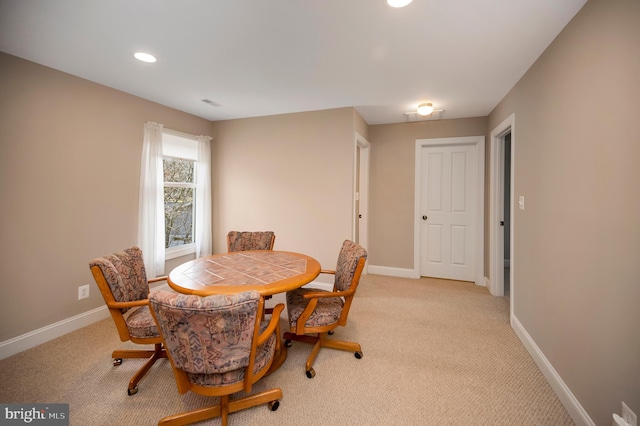
[[[333,334],[333,330],[338,326],[347,324],[349,309],[366,260],[367,251],[362,246],[346,240],[340,249],[335,271],[320,271],[321,274],[335,276],[333,291],[307,287],[287,292],[290,331],[284,334],[285,344],[291,346],[291,340],[313,344],[305,366],[307,377],[310,379],[316,375],[313,361],[321,347],[352,351],[356,358],[362,358],[360,344],[333,340],[327,335]]]

